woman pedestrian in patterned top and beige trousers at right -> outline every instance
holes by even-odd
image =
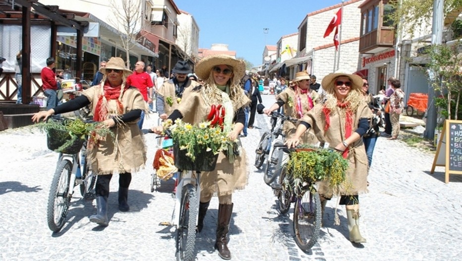
[[[390,123],[392,125],[392,136],[388,139],[397,139],[400,133],[400,115],[404,109],[404,91],[400,88],[400,80],[392,80],[393,94],[390,95]]]

